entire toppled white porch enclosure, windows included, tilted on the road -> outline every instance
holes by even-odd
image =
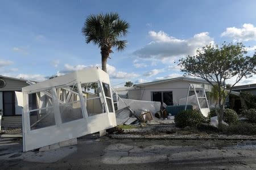
[[[98,68],[23,87],[23,151],[116,126],[109,75]]]

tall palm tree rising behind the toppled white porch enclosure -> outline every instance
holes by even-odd
[[[120,19],[117,13],[89,15],[86,18],[82,35],[87,44],[92,42],[101,49],[101,66],[105,72],[112,48],[116,47],[118,51],[125,49],[127,41],[120,38],[127,35],[129,27],[130,24]]]

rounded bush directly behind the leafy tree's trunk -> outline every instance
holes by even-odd
[[[220,112],[220,109],[217,109],[217,112]],[[208,121],[210,121],[210,117],[217,116],[215,109],[211,109],[208,114]],[[223,121],[227,124],[236,124],[238,122],[237,112],[233,109],[224,109],[223,113]]]

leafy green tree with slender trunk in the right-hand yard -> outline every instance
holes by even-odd
[[[218,128],[222,129],[222,118],[225,102],[223,100],[226,83],[232,80],[229,86],[228,96],[232,88],[242,78],[249,78],[256,74],[256,54],[246,56],[245,46],[237,44],[206,45],[198,49],[195,56],[188,56],[179,60],[181,71],[184,75],[197,76],[206,80],[209,84],[217,86],[218,92]]]

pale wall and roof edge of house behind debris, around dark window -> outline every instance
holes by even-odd
[[[187,97],[189,83],[203,84],[187,80],[177,80],[152,84],[151,86],[129,90],[129,99],[151,101],[151,92],[153,91],[172,91],[174,105],[179,104],[179,99]],[[208,84],[208,83],[205,83]]]

